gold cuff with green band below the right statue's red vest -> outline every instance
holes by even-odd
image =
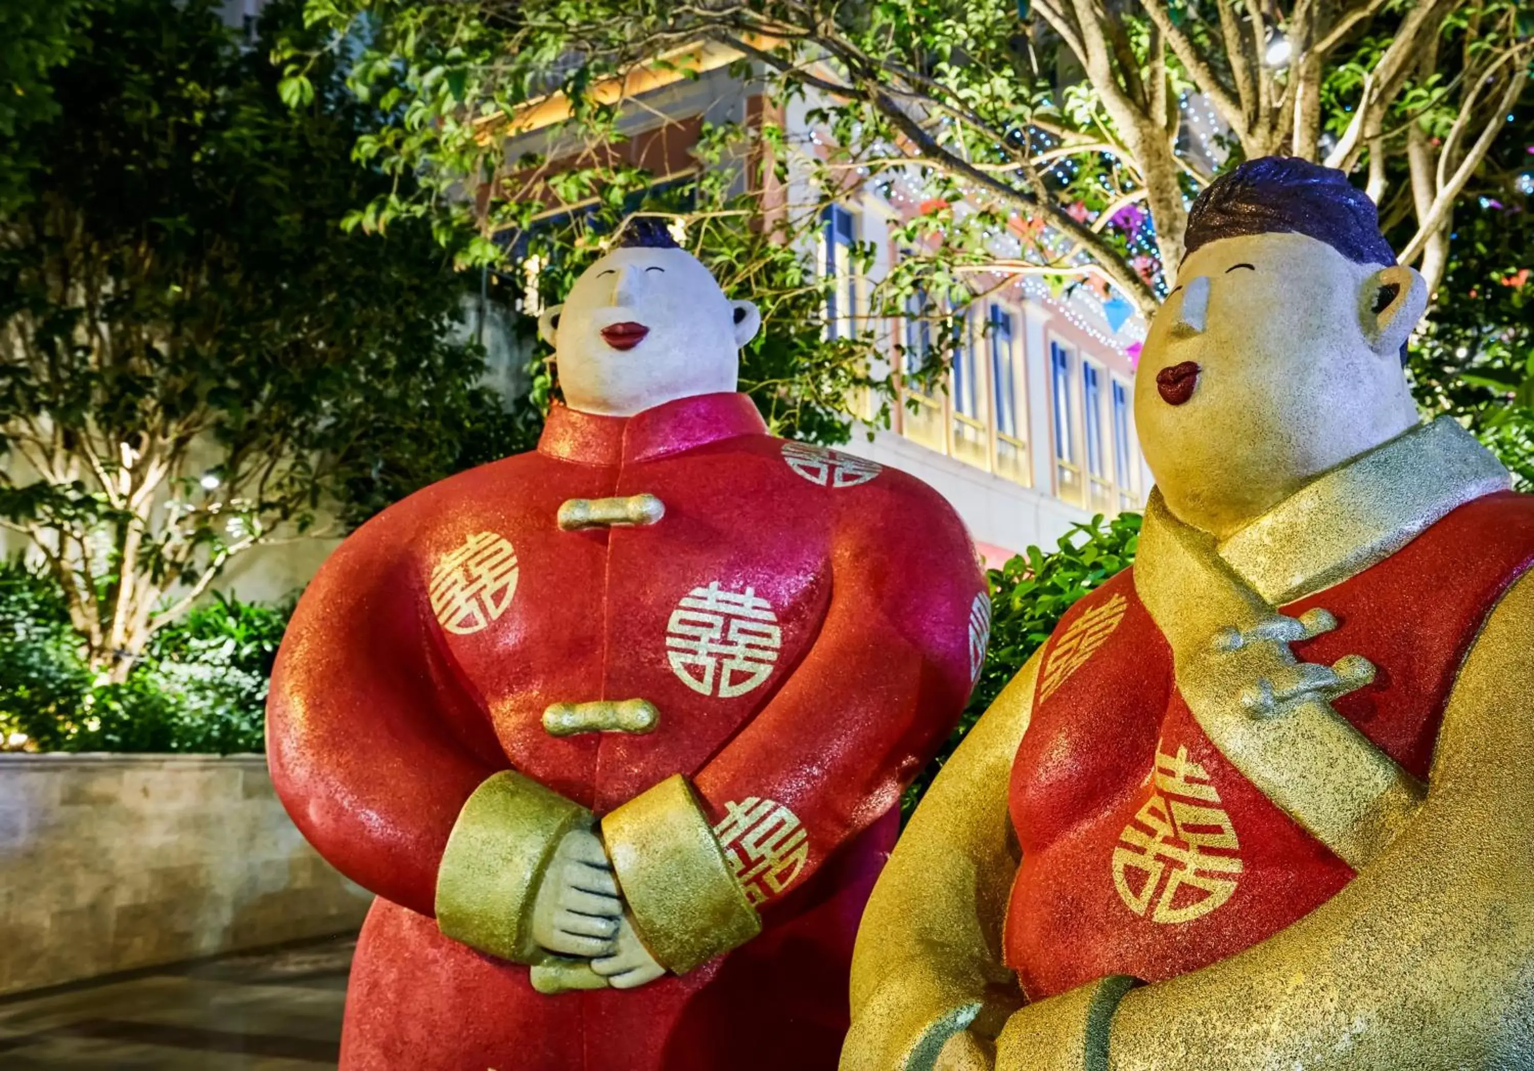
[[[1031,1003],[996,1039],[996,1071],[1108,1071],[1114,1011],[1138,980],[1109,974]]]

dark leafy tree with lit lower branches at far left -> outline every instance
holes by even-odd
[[[0,523],[107,681],[233,555],[518,433],[448,341],[463,287],[430,230],[339,227],[390,180],[350,163],[371,114],[336,61],[293,110],[216,8],[92,0],[0,215]],[[262,32],[298,25],[281,2]]]

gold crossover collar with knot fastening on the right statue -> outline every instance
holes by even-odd
[[[1172,648],[1178,692],[1215,747],[1355,870],[1411,822],[1425,790],[1332,706],[1374,666],[1358,655],[1302,664],[1290,651],[1336,620],[1273,609],[1505,486],[1502,465],[1445,417],[1312,480],[1221,545],[1150,493],[1135,591]]]

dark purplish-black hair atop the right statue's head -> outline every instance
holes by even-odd
[[[1368,193],[1299,157],[1249,160],[1210,183],[1187,213],[1184,247],[1273,232],[1307,235],[1355,264],[1396,262]]]

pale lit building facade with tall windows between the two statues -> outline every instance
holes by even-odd
[[[867,292],[899,256],[890,239],[899,215],[871,190],[827,212],[819,262],[844,276],[833,295],[853,318],[867,315]],[[838,252],[848,241],[874,244],[868,278]],[[936,327],[914,307],[879,324],[899,404],[890,428],[859,425],[841,450],[937,488],[991,566],[1029,545],[1052,546],[1094,514],[1138,509],[1150,491],[1134,427],[1144,327],[1131,318],[1114,330],[1103,304],[1080,287],[1055,296],[1039,279],[1003,281],[969,305],[946,373],[925,387],[907,371],[927,358]],[[839,321],[841,310],[828,308],[828,330]]]

